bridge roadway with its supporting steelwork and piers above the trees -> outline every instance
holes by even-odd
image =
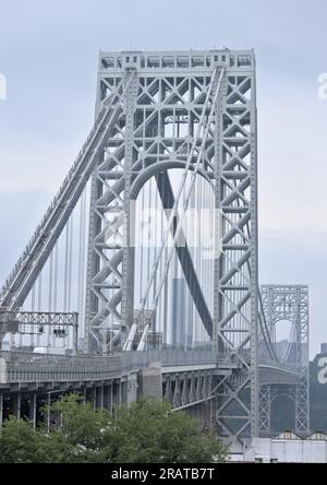
[[[237,368],[227,356],[217,358],[211,350],[166,348],[108,357],[0,351],[0,425],[10,414],[35,424],[43,405],[72,391],[81,392],[94,407],[111,412],[114,405],[134,402],[141,395],[164,397],[175,410],[189,407],[196,415],[201,409],[198,417],[210,422],[218,379]],[[259,383],[292,386],[296,374],[291,366],[261,362]]]

